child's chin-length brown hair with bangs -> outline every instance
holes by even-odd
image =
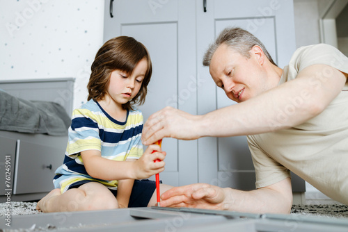
[[[122,104],[122,108],[134,110],[132,105],[143,104],[148,93],[152,63],[148,49],[141,42],[128,36],[119,36],[105,42],[95,55],[87,85],[88,101],[104,99],[113,70],[119,69],[127,74],[132,74],[134,67],[143,58],[148,61],[148,69],[141,83],[141,89],[132,100]]]

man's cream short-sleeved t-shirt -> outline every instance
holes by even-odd
[[[314,64],[330,65],[348,73],[348,58],[340,51],[328,44],[310,45],[295,51],[279,85]],[[319,85],[315,78],[313,85]],[[305,96],[299,93],[292,104],[305,101]],[[280,120],[291,116],[291,107]],[[248,135],[248,145],[255,166],[256,188],[282,181],[290,176],[290,169],[327,196],[348,204],[348,82],[316,117],[290,129]]]

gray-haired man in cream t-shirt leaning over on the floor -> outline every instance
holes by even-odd
[[[239,104],[206,115],[164,108],[145,123],[143,143],[171,137],[248,135],[256,190],[197,183],[162,194],[161,206],[290,213],[290,171],[348,204],[348,58],[327,44],[297,49],[284,69],[241,28],[226,28],[203,65]]]

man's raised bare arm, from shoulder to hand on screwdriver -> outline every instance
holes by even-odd
[[[311,65],[293,81],[242,103],[214,110],[206,115],[190,115],[164,108],[145,122],[143,143],[171,137],[193,140],[204,136],[237,136],[286,129],[319,115],[338,96],[347,81],[328,65]]]

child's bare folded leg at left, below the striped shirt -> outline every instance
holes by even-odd
[[[63,194],[61,190],[54,189],[42,198],[36,207],[44,213],[112,208],[118,208],[116,197],[108,188],[97,182],[85,183]]]

